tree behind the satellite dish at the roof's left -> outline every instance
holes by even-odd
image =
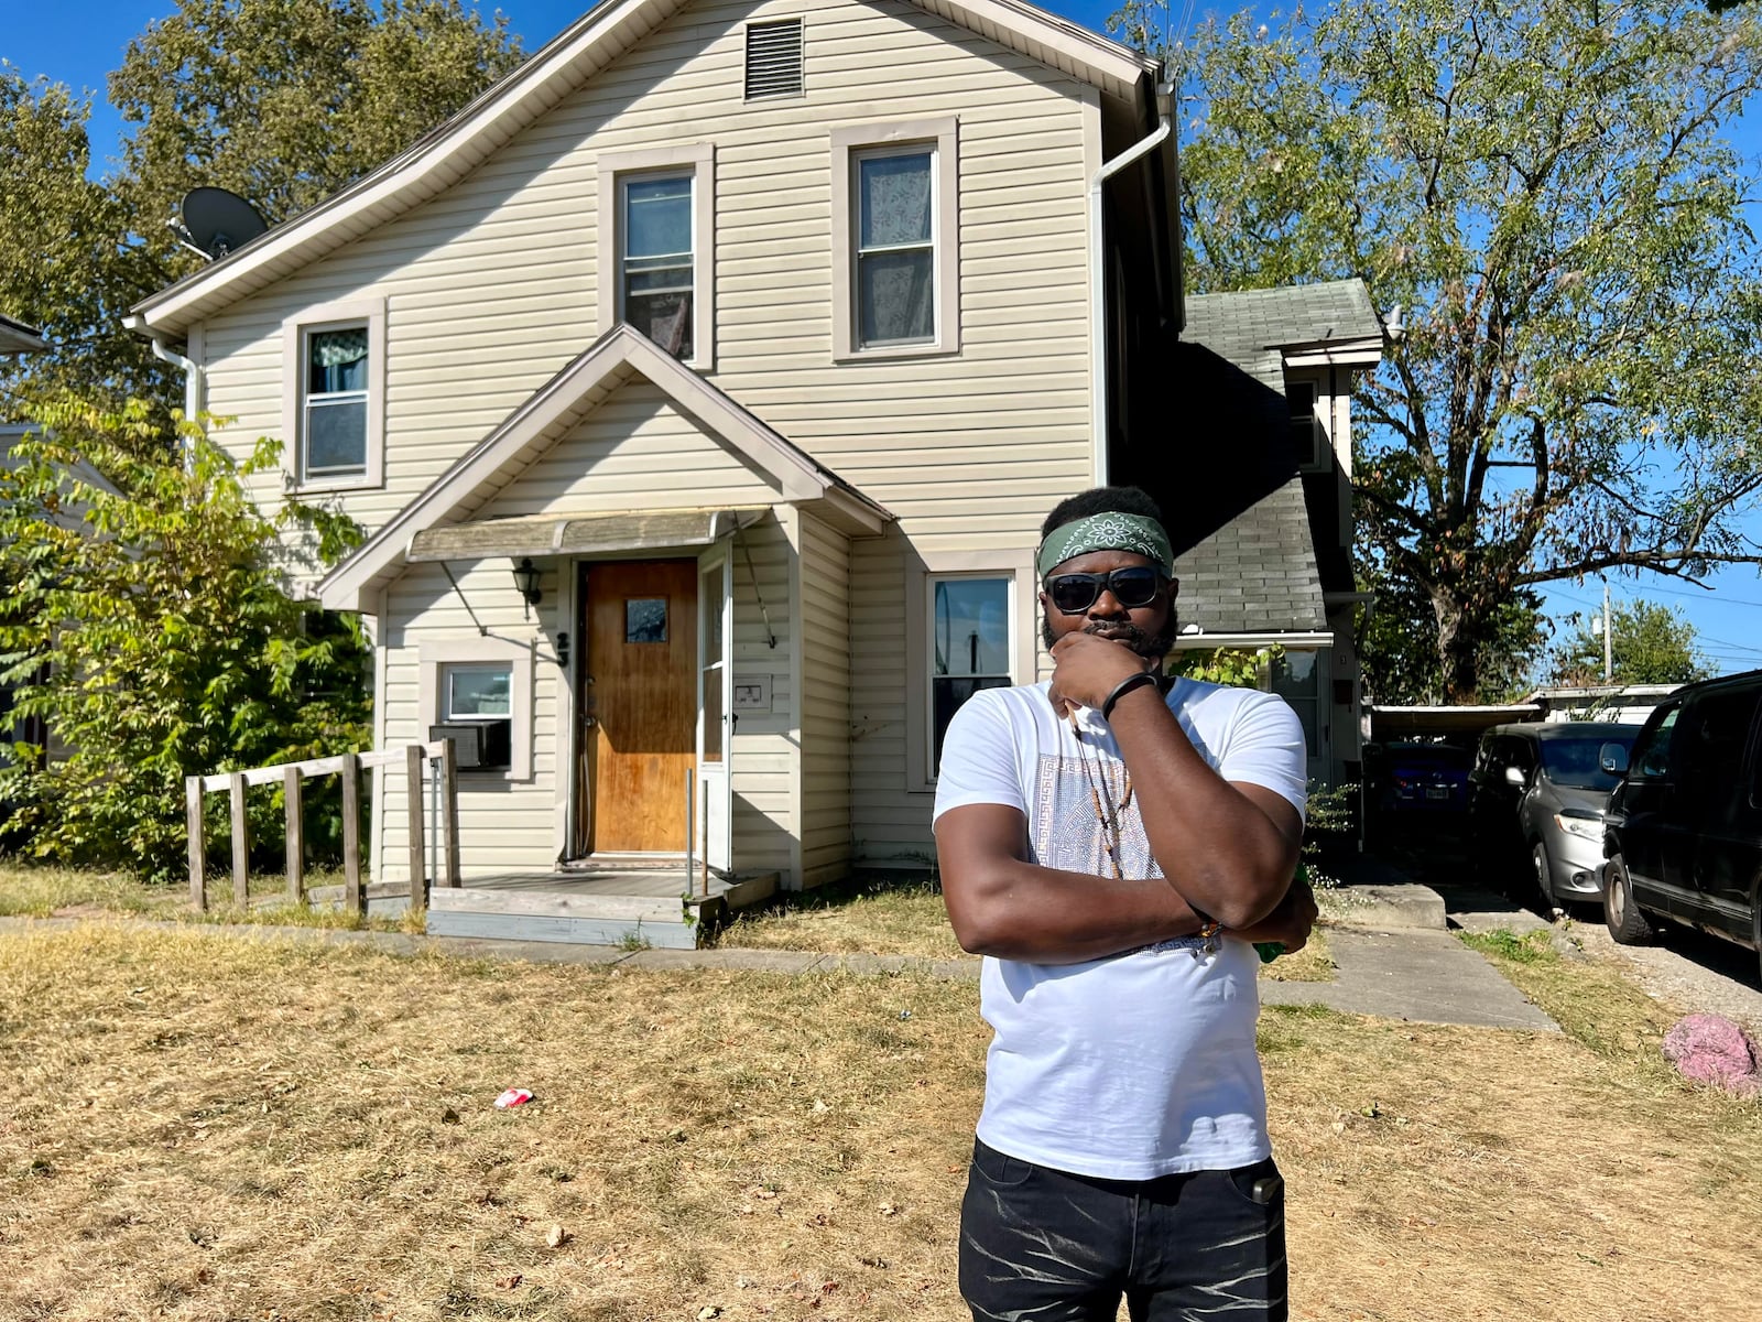
[[[287,220],[522,58],[500,14],[460,0],[178,0],[109,78],[130,129],[102,182],[86,176],[90,104],[0,65],[0,310],[51,342],[0,360],[0,421],[74,388],[107,411],[144,398],[169,423],[181,381],[122,317],[203,264],[166,224],[183,194],[231,189]]]

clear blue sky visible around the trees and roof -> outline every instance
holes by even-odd
[[[507,14],[511,30],[520,33],[529,51],[562,32],[587,7],[587,0],[502,0],[500,5],[479,5]],[[1047,7],[1099,32],[1117,4],[1064,0]],[[1173,9],[1181,14],[1186,7],[1175,4]],[[1195,5],[1188,12],[1203,14],[1210,9]],[[171,12],[176,12],[174,0],[0,0],[0,58],[26,76],[46,74],[92,93],[93,173],[102,173],[106,160],[118,155],[122,134],[122,120],[104,100],[104,76],[122,63],[127,44],[152,19]],[[1753,118],[1737,122],[1734,130],[1751,160],[1762,155],[1762,132]],[[1748,518],[1746,529],[1762,541],[1762,516]],[[1644,596],[1681,606],[1700,631],[1702,649],[1718,670],[1762,666],[1762,578],[1757,569],[1734,566],[1713,575],[1707,583],[1711,592],[1646,575],[1639,582],[1612,578],[1610,589],[1618,601]],[[1573,612],[1588,617],[1602,606],[1602,583],[1591,578],[1582,585],[1561,585],[1547,592],[1547,606],[1556,620],[1565,620]]]

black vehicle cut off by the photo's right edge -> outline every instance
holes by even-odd
[[[1762,670],[1653,710],[1609,798],[1603,917],[1623,945],[1669,918],[1762,952]]]

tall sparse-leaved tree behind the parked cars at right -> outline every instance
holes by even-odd
[[[1115,26],[1154,48],[1163,12]],[[1762,86],[1751,11],[1388,0],[1173,56],[1189,287],[1360,277],[1390,319],[1353,400],[1360,568],[1422,598],[1445,698],[1542,583],[1762,562],[1762,279],[1721,134]]]

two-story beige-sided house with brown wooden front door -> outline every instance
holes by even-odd
[[[379,746],[481,730],[467,876],[675,855],[687,786],[724,873],[927,865],[948,717],[1047,670],[1040,520],[1228,458],[1172,425],[1158,78],[1015,0],[608,0],[129,324],[183,345],[222,444],[284,441],[261,501],[365,525],[335,569],[291,564],[372,629]],[[1247,354],[1274,448],[1339,338],[1293,326]],[[1230,511],[1260,561],[1263,504]],[[1232,534],[1203,534],[1207,640],[1325,656],[1327,557],[1279,562],[1302,608],[1251,622],[1221,605]],[[375,783],[377,880],[405,874],[403,807]]]

